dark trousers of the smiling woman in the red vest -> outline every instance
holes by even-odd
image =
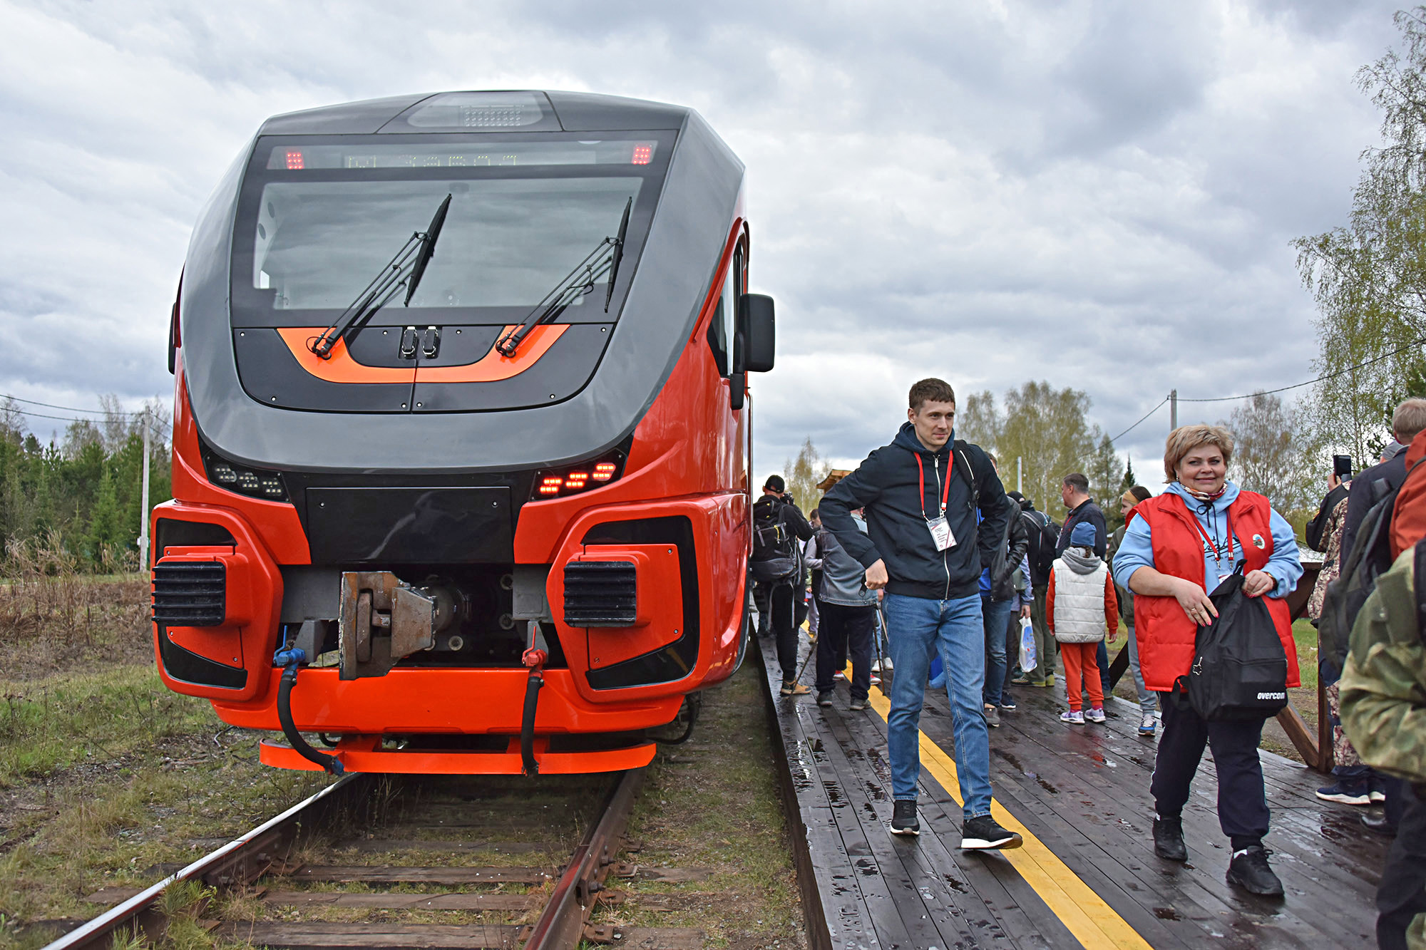
[[[1208,745],[1218,770],[1219,827],[1232,839],[1233,850],[1261,842],[1268,833],[1269,817],[1258,760],[1265,720],[1205,722],[1192,709],[1179,709],[1172,693],[1159,695],[1159,709],[1164,710],[1164,736],[1149,785],[1159,816],[1182,814],[1188,786]]]

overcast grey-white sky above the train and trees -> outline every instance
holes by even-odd
[[[565,88],[692,106],[747,164],[759,478],[807,435],[854,464],[924,375],[1075,387],[1114,435],[1310,378],[1289,242],[1346,220],[1397,6],[0,1],[0,391],[168,397],[188,233],[265,117]],[[1119,448],[1152,472],[1166,429]]]

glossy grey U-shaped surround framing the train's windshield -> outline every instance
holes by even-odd
[[[371,134],[424,96],[279,116],[262,134]],[[181,300],[183,364],[202,438],[240,464],[308,472],[496,472],[582,461],[627,436],[657,398],[712,284],[743,187],[743,164],[693,110],[550,93],[570,131],[679,130],[645,251],[589,384],[555,405],[428,415],[284,409],[244,392],[228,290],[234,217],[257,138],[200,213]]]

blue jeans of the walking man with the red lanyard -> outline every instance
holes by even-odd
[[[947,672],[945,692],[951,699],[963,812],[967,819],[990,814],[990,735],[981,713],[985,626],[980,595],[931,601],[888,593],[883,606],[891,663],[896,668],[891,679],[891,715],[887,716],[891,796],[904,802],[915,800],[915,783],[921,776],[921,705],[925,702],[931,650],[938,650]],[[1004,672],[1001,669],[1001,675]]]

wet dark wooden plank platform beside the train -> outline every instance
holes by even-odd
[[[1058,680],[1018,688],[1020,709],[991,729],[991,782],[1004,809],[997,817],[1022,826],[1027,844],[967,853],[960,803],[934,777],[940,770],[958,795],[947,776],[955,746],[944,690],[928,690],[921,713],[921,834],[897,837],[884,696],[873,686],[874,708],[850,712],[838,680],[833,708],[813,695],[781,698],[771,642],[761,653],[814,947],[1375,946],[1386,842],[1360,826],[1362,809],[1318,800],[1322,776],[1295,762],[1262,753],[1272,807],[1265,844],[1288,893],[1252,897],[1224,880],[1229,849],[1206,753],[1184,810],[1189,860],[1161,860],[1148,793],[1155,739],[1137,733],[1137,706],[1114,699],[1107,723],[1065,726]],[[803,682],[811,685],[811,665]]]

